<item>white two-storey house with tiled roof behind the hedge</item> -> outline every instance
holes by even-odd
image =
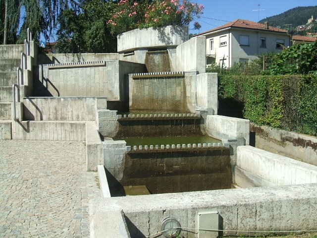
[[[234,20],[195,36],[206,36],[207,64],[251,61],[266,52],[290,46],[287,31],[249,20]]]

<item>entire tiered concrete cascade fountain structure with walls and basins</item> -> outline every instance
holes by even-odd
[[[217,115],[205,37],[188,40],[173,26],[134,30],[118,36],[118,54],[78,56],[38,55],[29,38],[7,54],[20,59],[25,50],[27,63],[21,57],[23,74],[1,105],[12,117],[0,122],[0,136],[86,142],[87,170],[98,168],[103,195],[90,202],[91,237],[161,237],[170,217],[188,238],[317,230],[317,167],[249,146],[248,120]],[[151,133],[217,141],[123,139]],[[112,185],[141,180],[153,193],[174,193],[111,197]],[[209,190],[231,183],[244,188]]]

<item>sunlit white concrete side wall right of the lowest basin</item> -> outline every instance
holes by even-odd
[[[252,146],[239,146],[236,183],[241,187],[317,183],[317,166]]]

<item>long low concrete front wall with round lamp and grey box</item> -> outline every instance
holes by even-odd
[[[219,229],[231,230],[219,237],[263,236],[262,233],[236,231],[276,231],[280,234],[278,231],[317,230],[317,218],[312,215],[317,213],[316,190],[317,183],[97,198],[90,200],[90,221],[106,224],[107,212],[123,210],[132,238],[160,232],[163,219],[169,216],[176,217],[184,227],[182,237],[194,238],[195,216],[203,211],[217,211],[222,223]],[[112,233],[103,226],[94,229],[100,234]]]

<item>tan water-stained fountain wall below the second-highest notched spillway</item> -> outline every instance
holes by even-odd
[[[132,111],[196,113],[196,72],[171,77],[129,75],[129,91]]]

